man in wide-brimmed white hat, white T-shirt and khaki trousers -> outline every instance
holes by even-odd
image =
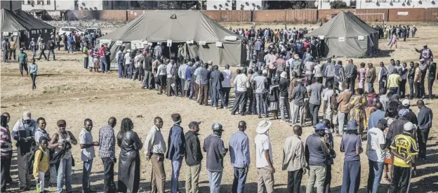
[[[272,158],[272,147],[269,138],[270,121],[260,121],[255,132],[255,166],[257,167],[257,192],[274,192],[274,161]]]

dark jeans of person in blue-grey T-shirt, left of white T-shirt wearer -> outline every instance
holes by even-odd
[[[360,185],[361,165],[360,161],[344,161],[343,185],[341,193],[357,192]]]

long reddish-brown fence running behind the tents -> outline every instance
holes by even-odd
[[[69,11],[68,20],[126,22],[147,10]],[[438,22],[438,8],[304,9],[261,11],[202,11],[217,22],[317,22],[330,20],[340,11],[351,11],[365,22]]]

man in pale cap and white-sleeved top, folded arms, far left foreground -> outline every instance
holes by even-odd
[[[23,112],[22,119],[18,119],[13,126],[12,136],[17,141],[17,160],[18,166],[25,166],[25,154],[31,151],[34,142],[34,133],[37,128],[36,121],[32,119],[29,111]],[[20,190],[29,190],[31,175],[27,174],[25,167],[18,167],[18,179],[20,180]]]

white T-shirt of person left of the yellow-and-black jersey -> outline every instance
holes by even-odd
[[[366,135],[368,141],[366,150],[368,151],[368,159],[371,161],[383,162],[386,151],[380,149],[380,144],[385,144],[385,134],[380,128],[373,127]]]

